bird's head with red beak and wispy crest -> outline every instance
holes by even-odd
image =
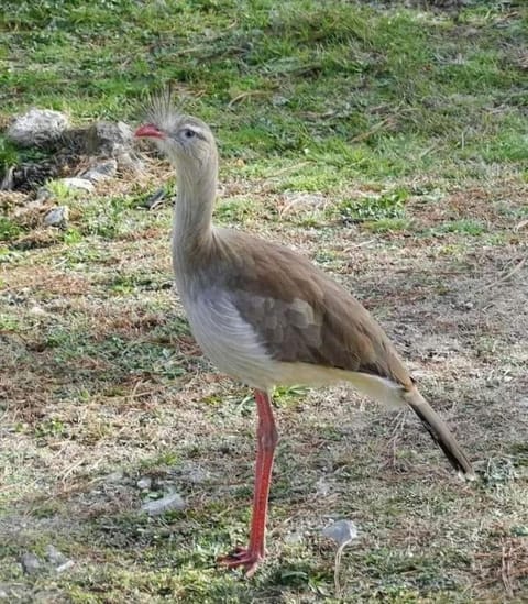
[[[177,167],[201,172],[217,163],[217,145],[209,127],[190,116],[172,109],[162,99],[153,101],[147,122],[135,136],[152,139],[167,160]]]

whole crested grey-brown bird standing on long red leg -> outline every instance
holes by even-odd
[[[256,463],[248,547],[219,559],[255,573],[265,557],[268,494],[278,431],[276,386],[345,382],[395,408],[410,408],[461,476],[472,464],[373,316],[346,289],[293,250],[213,224],[219,153],[211,129],[151,101],[136,138],[152,140],[176,172],[172,260],[193,334],[222,372],[254,389]]]

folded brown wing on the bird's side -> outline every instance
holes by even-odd
[[[232,303],[284,362],[314,363],[413,381],[370,312],[307,259],[287,248],[222,231],[220,264]],[[220,260],[217,257],[217,261]]]

